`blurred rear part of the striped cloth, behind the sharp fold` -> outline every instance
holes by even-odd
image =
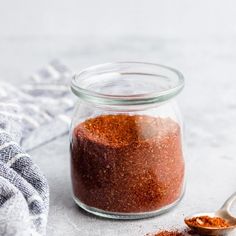
[[[0,128],[26,151],[66,134],[74,106],[70,81],[70,70],[55,60],[20,88],[0,82]]]

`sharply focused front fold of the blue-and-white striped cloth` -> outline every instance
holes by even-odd
[[[49,188],[29,155],[0,130],[0,235],[45,235]]]

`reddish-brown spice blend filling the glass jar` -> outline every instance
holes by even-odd
[[[182,194],[179,125],[170,118],[102,115],[75,127],[71,143],[74,196],[110,212],[158,210]]]

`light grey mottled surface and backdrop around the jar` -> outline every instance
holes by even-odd
[[[0,80],[18,85],[59,58],[73,71],[120,60],[150,61],[183,72],[187,190],[161,217],[111,221],[71,199],[68,138],[31,152],[51,189],[48,235],[142,236],[182,227],[236,190],[236,1],[0,0]]]

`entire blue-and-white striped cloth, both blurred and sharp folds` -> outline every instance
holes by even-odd
[[[20,88],[0,83],[0,235],[46,234],[49,187],[25,150],[68,132],[70,76],[54,61]]]

